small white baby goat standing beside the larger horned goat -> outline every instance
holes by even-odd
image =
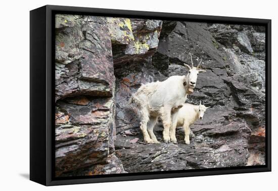
[[[182,104],[181,106],[177,106],[176,109],[172,109],[172,126],[170,128],[170,138],[174,144],[177,144],[175,135],[176,126],[182,126],[185,134],[184,141],[186,141],[186,144],[190,144],[189,126],[198,119],[203,119],[204,113],[209,107],[202,105],[201,101],[200,105]]]

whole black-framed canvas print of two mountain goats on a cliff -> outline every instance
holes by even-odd
[[[271,20],[30,12],[30,179],[271,170]]]

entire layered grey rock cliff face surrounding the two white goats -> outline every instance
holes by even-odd
[[[177,145],[145,144],[128,99],[142,83],[186,75],[189,53],[207,72],[188,103],[211,108],[190,145],[180,128]],[[56,175],[264,164],[264,58],[263,27],[57,15]]]

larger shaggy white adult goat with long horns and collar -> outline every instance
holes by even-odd
[[[201,62],[202,59],[198,66],[194,67],[191,56],[192,67],[184,64],[189,69],[187,76],[171,76],[162,82],[143,84],[132,94],[130,103],[135,103],[138,107],[144,141],[159,143],[153,128],[160,116],[164,126],[163,140],[170,142],[171,109],[186,102],[187,94],[193,92],[198,74],[205,72],[199,68]]]

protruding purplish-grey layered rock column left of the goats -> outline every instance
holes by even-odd
[[[115,77],[111,35],[100,17],[56,18],[56,176],[124,173],[114,155]],[[109,160],[108,160],[109,159]]]

